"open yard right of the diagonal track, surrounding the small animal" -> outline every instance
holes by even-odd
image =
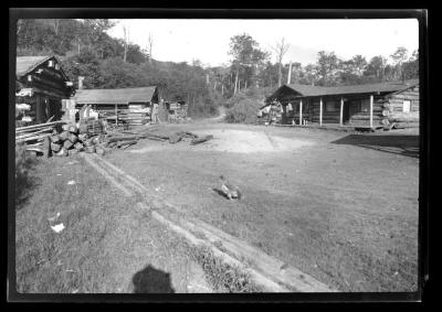
[[[144,140],[106,158],[183,215],[341,291],[417,289],[417,133],[223,123],[168,129],[215,135],[198,147]],[[259,149],[252,139],[261,140]],[[215,192],[220,174],[242,189],[243,200]]]

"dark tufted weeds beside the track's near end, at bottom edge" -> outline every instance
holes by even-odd
[[[190,256],[203,269],[210,286],[217,292],[263,292],[239,267],[223,262],[209,247],[191,247]]]

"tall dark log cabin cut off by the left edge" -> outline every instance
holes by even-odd
[[[73,84],[54,56],[19,56],[15,67],[15,104],[28,104],[30,110],[17,111],[17,122],[28,125],[59,120],[62,100],[71,97]],[[20,125],[22,126],[22,125]]]

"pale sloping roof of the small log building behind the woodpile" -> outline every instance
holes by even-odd
[[[74,96],[77,104],[129,104],[151,101],[156,86],[123,89],[78,89]]]

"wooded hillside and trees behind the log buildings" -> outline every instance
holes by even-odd
[[[86,88],[156,85],[166,100],[186,100],[193,116],[215,114],[219,105],[231,103],[243,89],[272,90],[287,83],[290,65],[284,56],[290,44],[284,39],[271,53],[249,34],[234,35],[230,64],[203,67],[198,60],[191,64],[156,61],[150,55],[155,39],[149,35],[150,49],[144,50],[110,37],[106,31],[113,26],[105,19],[20,20],[17,53],[56,55],[74,83],[85,77]],[[315,64],[292,63],[291,83],[336,86],[418,78],[418,51],[409,55],[404,47],[392,51],[389,58],[379,55],[369,61],[361,55],[340,60],[334,52],[320,51]]]

